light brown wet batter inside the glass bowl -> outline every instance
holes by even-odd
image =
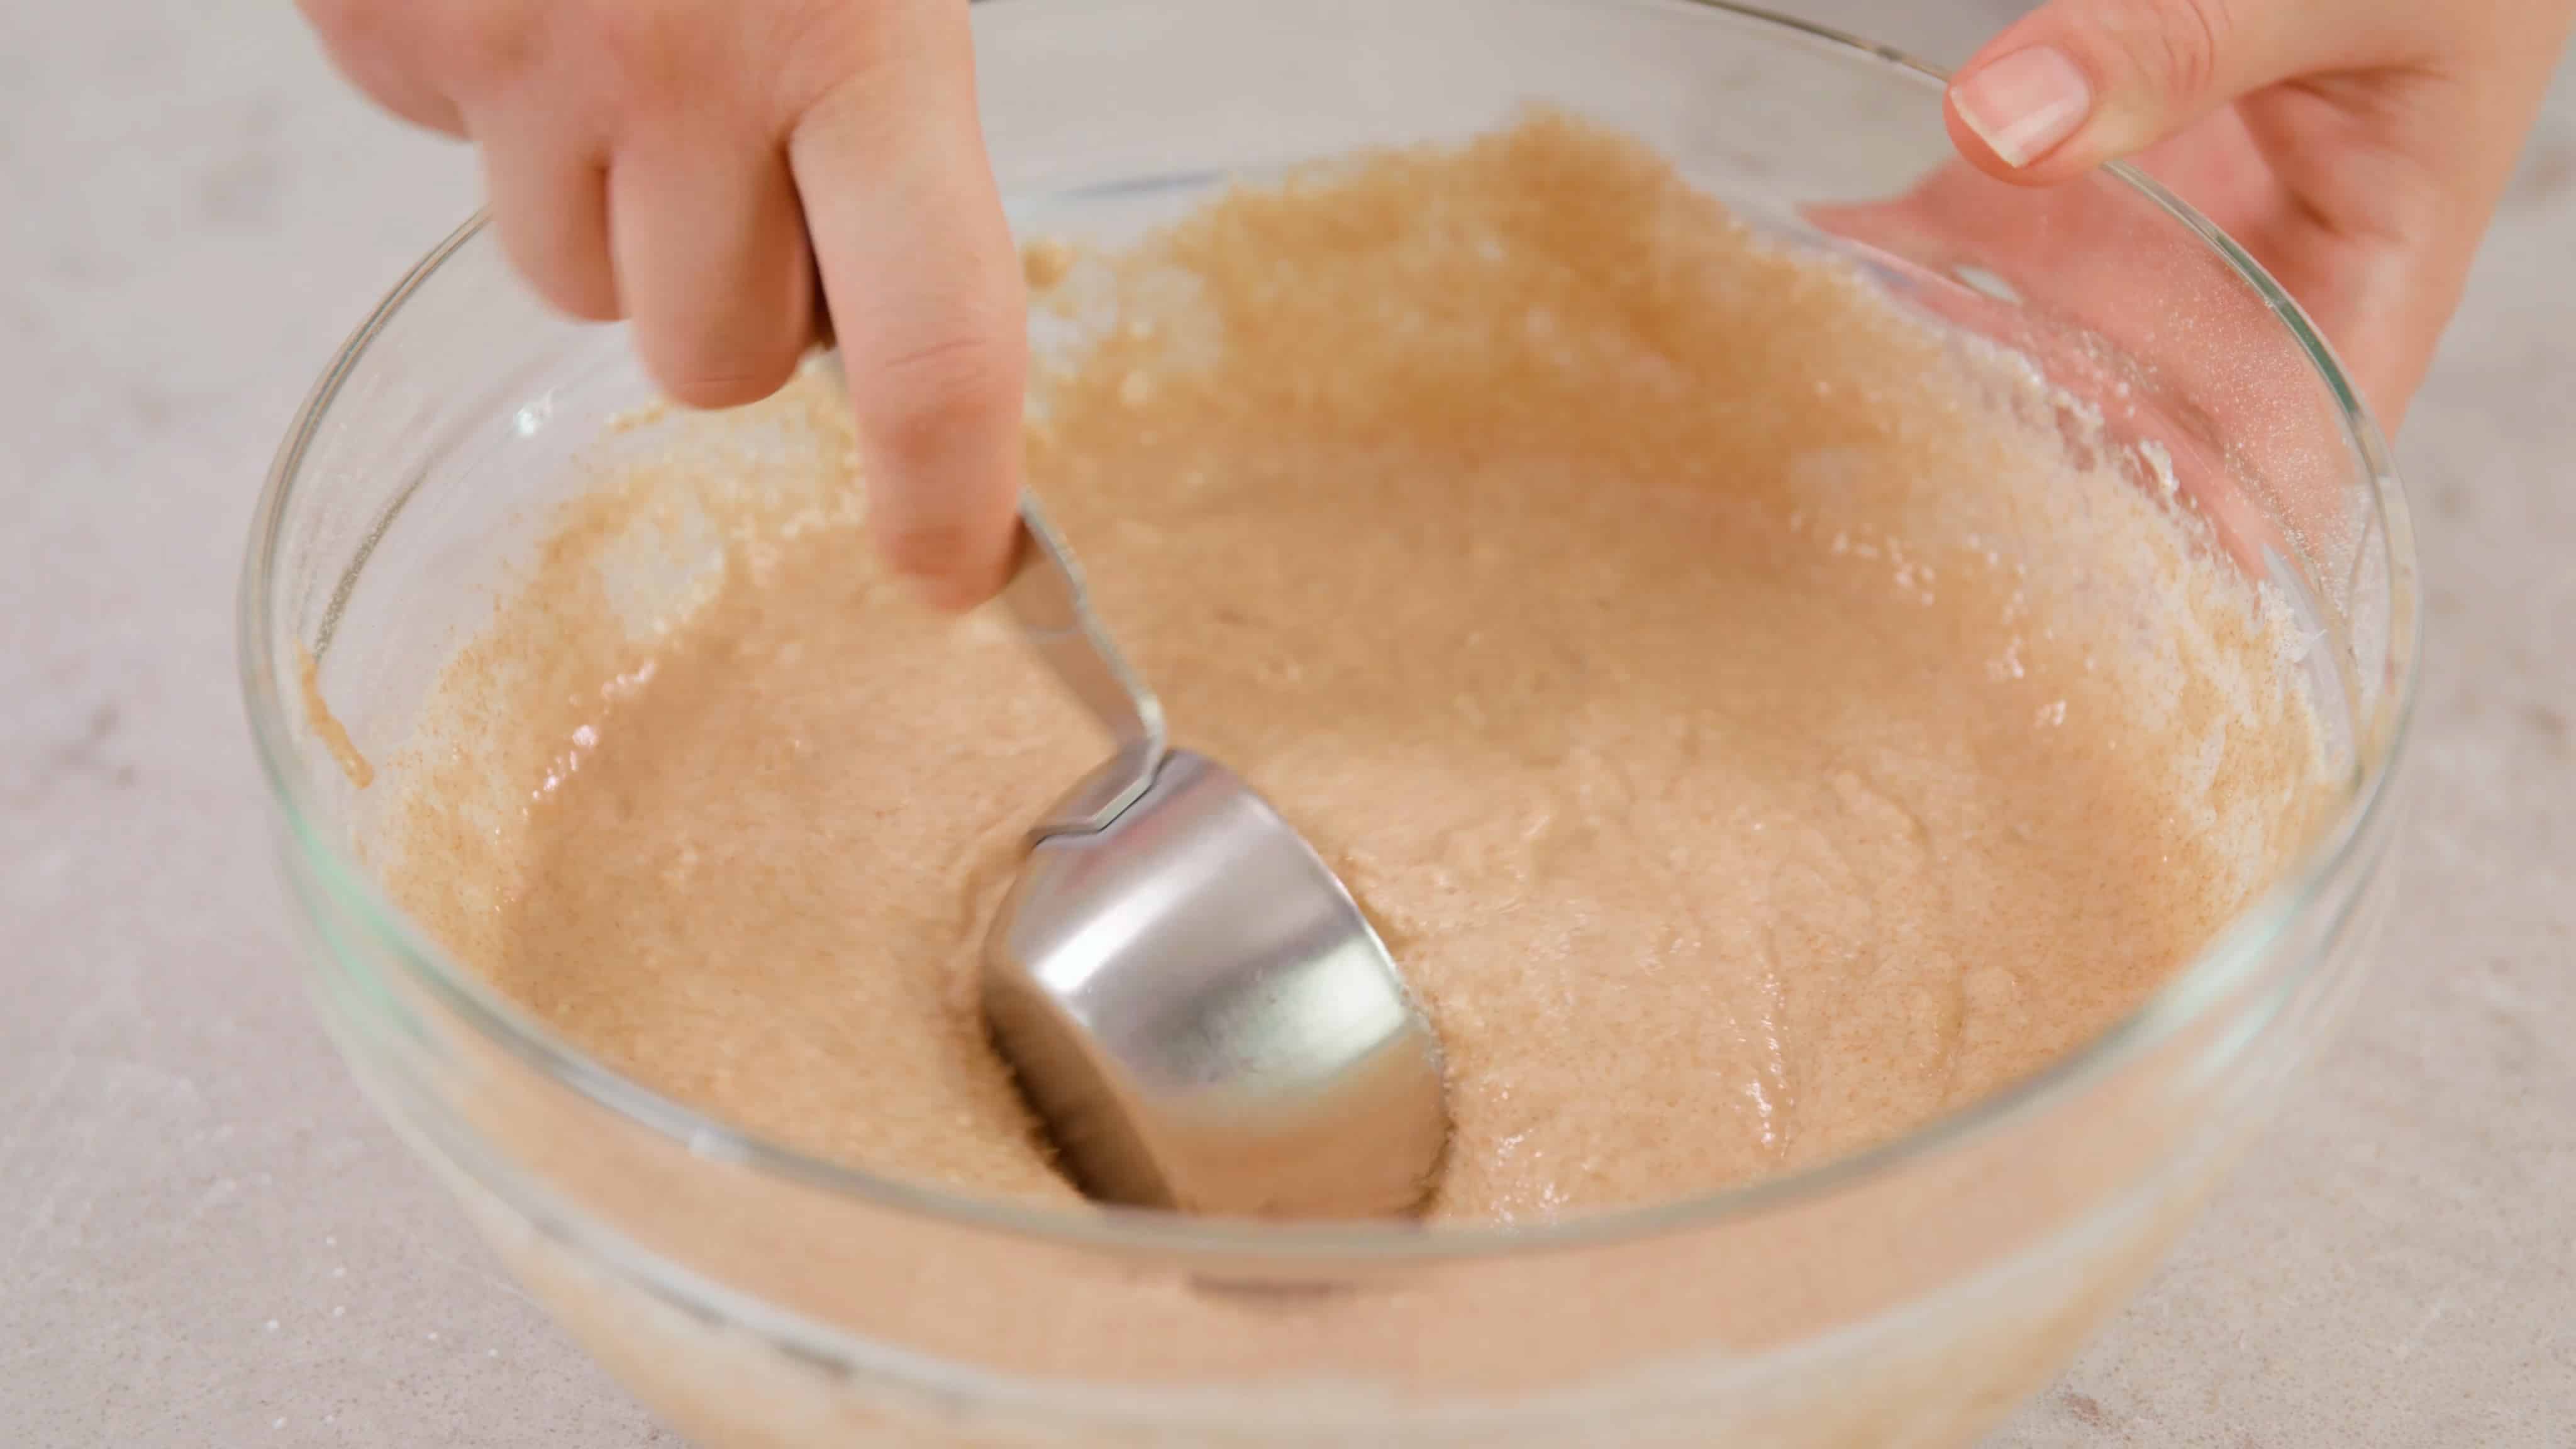
[[[1533,119],[1041,260],[1079,343],[1030,480],[1180,743],[1425,998],[1435,1217],[1698,1194],[1986,1093],[2324,799],[2262,601],[2079,410],[1631,142]],[[974,954],[1103,745],[863,526],[814,379],[611,438],[448,673],[389,874],[662,1093],[1069,1201]]]

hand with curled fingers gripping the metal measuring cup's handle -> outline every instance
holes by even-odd
[[[933,601],[1002,580],[1028,369],[966,0],[299,0],[381,106],[482,155],[513,266],[631,317],[652,376],[752,402],[850,374],[873,534]]]

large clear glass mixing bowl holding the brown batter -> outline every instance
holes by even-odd
[[[974,8],[1018,219],[1121,240],[1234,175],[1546,101],[1788,245],[2027,353],[2141,485],[2303,614],[2336,817],[2081,1052],[1896,1142],[1522,1227],[1069,1214],[894,1183],[657,1098],[500,1000],[363,869],[399,743],[605,418],[616,330],[477,222],[332,361],[260,503],[242,678],[355,1078],[497,1250],[708,1446],[1963,1444],[2154,1263],[2352,993],[2416,676],[2388,454],[2298,309],[2156,186],[1947,165],[1940,80],[1687,0],[999,0]],[[353,789],[304,668],[392,779]]]

